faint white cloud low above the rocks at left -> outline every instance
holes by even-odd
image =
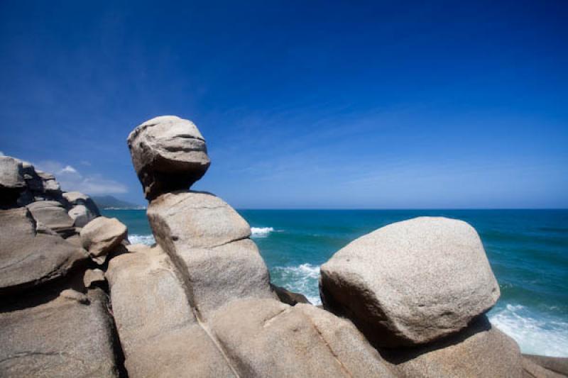
[[[36,168],[55,174],[55,179],[65,191],[80,191],[84,194],[119,194],[126,193],[126,185],[107,179],[101,174],[80,174],[77,169],[60,162],[46,160],[35,165]]]

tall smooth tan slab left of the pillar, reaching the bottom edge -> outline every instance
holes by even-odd
[[[107,279],[129,377],[234,377],[160,248],[115,257]]]

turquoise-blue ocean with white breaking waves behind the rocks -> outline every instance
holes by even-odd
[[[154,243],[145,210],[105,210],[131,243]],[[488,313],[525,353],[568,357],[568,210],[239,210],[274,284],[320,304],[320,265],[377,228],[417,216],[464,220],[481,235],[501,299]]]

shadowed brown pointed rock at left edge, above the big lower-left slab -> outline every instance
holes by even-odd
[[[64,277],[87,260],[82,248],[35,226],[26,208],[0,211],[0,294]]]

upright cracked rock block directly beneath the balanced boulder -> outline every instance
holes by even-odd
[[[148,207],[148,220],[204,318],[234,299],[275,297],[268,269],[248,238],[249,224],[222,199],[191,191],[163,194]]]

